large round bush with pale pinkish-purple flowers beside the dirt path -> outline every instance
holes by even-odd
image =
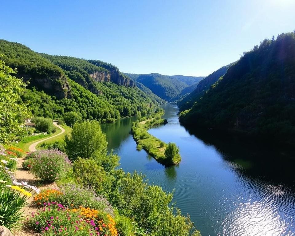
[[[71,167],[68,156],[58,150],[36,151],[33,156],[31,171],[46,183],[61,179]]]

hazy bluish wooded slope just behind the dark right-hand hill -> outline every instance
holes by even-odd
[[[190,91],[189,94],[187,94],[188,92],[184,89],[183,92],[174,100],[174,102],[178,104],[179,110],[184,111],[190,109],[194,105],[194,103],[199,100],[208,89],[210,89],[210,86],[218,81],[218,79],[223,76],[226,73],[227,69],[233,64],[234,63],[231,63],[219,68],[218,70],[214,71],[206,78],[201,80],[197,85],[190,86],[189,88],[193,90]]]

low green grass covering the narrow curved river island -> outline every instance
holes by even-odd
[[[161,116],[164,115],[164,113],[160,114]],[[159,117],[159,115],[158,115]],[[180,162],[179,159],[175,160],[174,163],[167,163],[164,151],[167,148],[167,144],[164,143],[162,140],[152,136],[150,133],[148,133],[148,129],[155,125],[165,124],[167,120],[158,118],[158,119],[148,119],[141,121],[140,123],[133,123],[132,124],[132,136],[134,140],[136,141],[137,150],[144,149],[149,155],[151,155],[153,158],[155,158],[159,163],[162,163],[166,166],[169,165],[176,165]]]

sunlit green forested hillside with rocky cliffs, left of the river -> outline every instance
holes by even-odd
[[[22,99],[30,102],[35,116],[56,119],[75,112],[83,120],[111,122],[137,112],[146,114],[164,102],[141,91],[108,63],[36,53],[5,40],[0,40],[0,54],[6,65],[17,68],[17,77],[29,81]]]

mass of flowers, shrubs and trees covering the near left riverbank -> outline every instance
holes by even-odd
[[[8,73],[13,70],[4,63],[1,65],[0,78],[5,85],[2,88],[9,93],[20,85],[17,91],[21,93],[25,85]],[[7,110],[6,101],[0,96],[2,117],[30,113],[27,104],[18,98],[16,93],[13,99],[19,104],[18,110]],[[47,120],[44,124],[48,124]],[[26,134],[22,119],[0,123],[0,127],[1,143],[9,147],[0,155],[1,226],[11,231],[24,226],[44,236],[200,235],[190,217],[183,216],[172,203],[172,193],[148,185],[141,173],[130,174],[119,169],[120,158],[107,153],[107,141],[98,121],[75,123],[64,141],[57,140],[57,147],[63,147],[65,152],[49,149],[26,154],[23,167],[36,176],[40,185],[55,181],[60,186],[59,190],[43,191],[11,180],[18,158],[25,155],[21,149],[10,146],[11,140],[22,140],[22,134]],[[32,196],[30,191],[36,195]],[[33,197],[39,209],[24,220],[22,209],[29,197]]]

